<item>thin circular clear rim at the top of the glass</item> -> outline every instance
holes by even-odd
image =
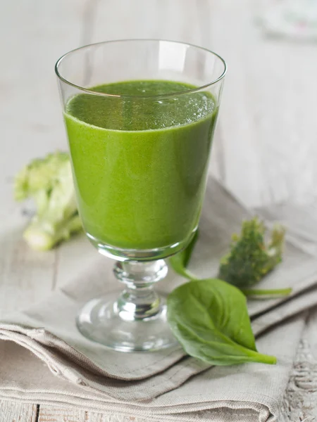
[[[167,93],[167,94],[127,95],[127,94],[107,94],[105,92],[94,91],[94,89],[88,89],[88,88],[85,88],[85,87],[80,87],[80,85],[74,84],[73,82],[70,82],[67,79],[65,79],[58,70],[58,67],[59,67],[59,65],[61,65],[61,62],[63,61],[63,59],[68,57],[71,53],[75,53],[76,51],[84,50],[87,47],[91,47],[91,46],[99,46],[101,44],[111,44],[111,43],[116,43],[116,42],[127,42],[127,41],[128,42],[130,42],[130,41],[164,41],[164,42],[169,42],[169,43],[173,43],[173,44],[182,44],[184,46],[194,47],[195,49],[199,49],[201,51],[206,51],[207,53],[211,53],[211,54],[213,54],[213,56],[216,56],[221,61],[221,63],[223,63],[223,72],[220,74],[219,77],[217,77],[213,81],[208,82],[207,84],[201,85],[199,87],[195,87],[193,89],[185,89],[184,91],[170,92],[170,93]],[[216,84],[217,82],[219,82],[221,79],[223,79],[225,77],[226,72],[227,72],[227,64],[225,63],[225,60],[221,56],[219,56],[217,53],[215,53],[214,51],[211,51],[211,50],[206,49],[204,47],[197,46],[195,44],[190,44],[190,43],[187,43],[187,42],[173,41],[173,40],[170,40],[170,39],[155,39],[155,38],[113,39],[113,40],[108,40],[108,41],[96,42],[96,43],[92,43],[92,44],[86,44],[85,46],[78,47],[77,49],[70,50],[67,53],[63,54],[63,56],[58,58],[58,60],[56,61],[56,64],[55,64],[56,76],[58,77],[58,79],[60,79],[65,84],[68,84],[71,87],[79,89],[80,91],[85,91],[85,92],[87,92],[87,94],[104,96],[104,97],[108,97],[108,98],[109,97],[110,98],[164,98],[164,97],[166,98],[166,97],[175,96],[175,95],[192,94],[194,92],[201,91],[202,89],[206,89],[208,87],[211,87],[211,85]]]

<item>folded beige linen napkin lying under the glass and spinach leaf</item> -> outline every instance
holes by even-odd
[[[245,217],[249,212],[211,179],[192,271],[199,276],[216,275],[230,235]],[[149,416],[151,421],[204,421],[211,417],[215,421],[276,420],[304,324],[302,316],[289,318],[317,303],[317,262],[312,253],[297,244],[294,234],[292,241],[287,241],[284,262],[261,283],[271,288],[292,286],[292,297],[249,303],[254,331],[264,332],[258,341],[259,350],[277,355],[276,366],[214,367],[191,378],[208,366],[184,357],[179,347],[124,354],[86,340],[75,328],[75,314],[85,300],[117,288],[111,265],[101,258],[93,271],[68,283],[48,300],[2,319],[0,338],[15,344],[0,342],[4,357],[0,359],[0,397],[75,404],[123,415],[122,421],[124,415],[141,418],[137,421],[142,422]],[[170,271],[161,289],[169,291],[181,282]],[[265,333],[282,319],[288,320]],[[52,376],[34,355],[58,377]]]

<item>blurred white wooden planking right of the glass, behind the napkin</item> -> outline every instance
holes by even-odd
[[[213,48],[228,61],[220,125],[226,184],[249,205],[316,196],[316,46],[268,39],[254,2],[213,2]]]

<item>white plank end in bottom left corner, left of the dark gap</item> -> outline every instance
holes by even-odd
[[[37,405],[19,402],[0,402],[1,422],[37,422]]]

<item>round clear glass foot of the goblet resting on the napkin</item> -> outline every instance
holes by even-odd
[[[159,311],[142,319],[118,305],[118,293],[90,300],[77,316],[82,335],[120,352],[160,350],[178,345],[166,319],[163,298]]]

